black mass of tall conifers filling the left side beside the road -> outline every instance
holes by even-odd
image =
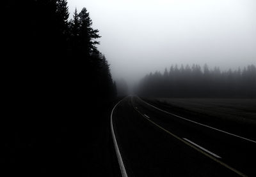
[[[66,0],[4,1],[3,14],[1,173],[86,176],[115,97],[99,31],[85,8],[69,22]]]

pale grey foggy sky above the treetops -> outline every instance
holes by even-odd
[[[172,64],[237,69],[256,64],[255,0],[68,0],[86,7],[114,80]]]

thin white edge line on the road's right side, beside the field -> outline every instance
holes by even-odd
[[[193,123],[195,123],[195,124],[202,125],[202,126],[204,126],[204,127],[208,127],[208,128],[210,128],[210,129],[214,129],[214,130],[216,130],[216,131],[220,131],[220,132],[223,132],[223,133],[225,133],[225,134],[229,134],[229,135],[231,135],[231,136],[236,136],[237,138],[245,139],[245,140],[247,140],[247,141],[251,141],[251,142],[253,142],[253,143],[256,143],[256,141],[253,141],[252,139],[244,138],[244,137],[242,137],[242,136],[238,136],[238,135],[232,134],[232,133],[230,133],[230,132],[221,131],[220,129],[216,129],[216,128],[210,127],[210,126],[208,126],[208,125],[200,124],[200,123],[195,122],[195,121],[193,121],[193,120],[189,120],[188,118],[180,117],[179,115],[175,115],[175,114],[173,114],[173,113],[169,113],[169,112],[167,112],[167,111],[161,110],[161,109],[157,108],[156,106],[153,106],[152,104],[147,103],[146,101],[144,101],[144,100],[141,99],[140,97],[138,97],[138,98],[139,98],[141,101],[143,101],[144,103],[148,104],[149,106],[152,106],[153,108],[155,108],[155,109],[157,109],[157,110],[159,110],[159,111],[163,111],[164,113],[167,113],[167,114],[169,114],[169,115],[173,115],[173,116],[175,116],[175,117],[182,118],[182,119],[187,120],[187,121],[189,121],[189,122],[193,122]]]

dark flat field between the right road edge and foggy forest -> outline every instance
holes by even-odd
[[[156,101],[193,113],[256,125],[256,99],[156,98]]]

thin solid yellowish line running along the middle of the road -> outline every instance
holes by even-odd
[[[140,115],[142,117],[145,117],[140,111],[136,110],[138,113],[140,113]],[[228,166],[227,164],[225,164],[224,162],[222,162],[219,159],[216,159],[215,157],[213,157],[212,155],[210,155],[209,153],[206,153],[204,150],[201,150],[199,147],[193,145],[192,143],[189,143],[188,141],[185,141],[182,138],[179,138],[179,136],[173,134],[172,132],[167,131],[166,129],[164,129],[163,127],[161,127],[160,125],[156,124],[155,122],[153,122],[152,120],[150,120],[149,118],[145,117],[149,122],[151,122],[152,124],[156,125],[157,127],[159,127],[159,129],[163,130],[164,132],[167,132],[168,134],[170,134],[171,136],[173,136],[174,138],[179,139],[180,141],[182,141],[183,143],[185,143],[186,145],[190,146],[191,148],[194,148],[195,150],[197,150],[198,152],[203,153],[205,156],[209,157],[210,159],[214,160],[215,162],[218,162],[219,164],[221,164],[222,166],[227,167],[228,169],[230,169],[231,171],[234,171],[234,173],[239,174],[240,176],[243,177],[248,177],[246,176],[246,174],[241,173],[240,171],[237,171],[237,169],[234,169],[233,167]]]

